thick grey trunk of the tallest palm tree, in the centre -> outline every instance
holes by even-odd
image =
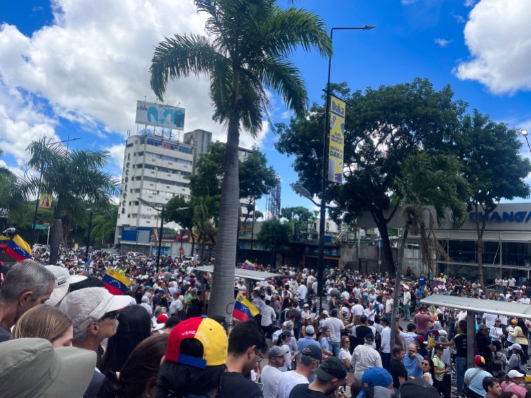
[[[234,304],[234,269],[238,238],[239,175],[238,175],[239,114],[232,111],[228,123],[225,173],[221,185],[219,229],[216,260],[212,275],[212,293],[208,316],[223,316],[228,322]]]

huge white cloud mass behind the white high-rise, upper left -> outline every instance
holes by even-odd
[[[61,119],[89,133],[87,147],[135,131],[136,101],[155,101],[154,46],[164,36],[201,34],[206,21],[192,0],[54,0],[52,6],[52,25],[31,36],[0,25],[0,146],[19,164],[31,140],[59,138]],[[207,129],[224,138],[211,118],[208,88],[204,78],[183,78],[168,84],[164,101],[186,108],[185,131]]]

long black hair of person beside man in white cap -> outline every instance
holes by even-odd
[[[139,305],[123,308],[117,320],[117,332],[110,337],[107,350],[98,362],[98,368],[104,375],[119,372],[132,350],[151,334],[150,315]]]

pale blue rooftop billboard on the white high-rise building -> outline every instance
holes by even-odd
[[[184,129],[184,108],[137,101],[135,123],[182,130]]]

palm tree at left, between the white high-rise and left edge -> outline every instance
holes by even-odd
[[[31,155],[28,167],[41,176],[26,176],[23,192],[52,193],[54,198],[50,264],[56,264],[59,244],[66,240],[71,220],[86,212],[87,203],[93,210],[107,209],[110,197],[118,191],[117,180],[101,171],[108,162],[105,151],[69,151],[46,138],[33,141],[26,150]]]

